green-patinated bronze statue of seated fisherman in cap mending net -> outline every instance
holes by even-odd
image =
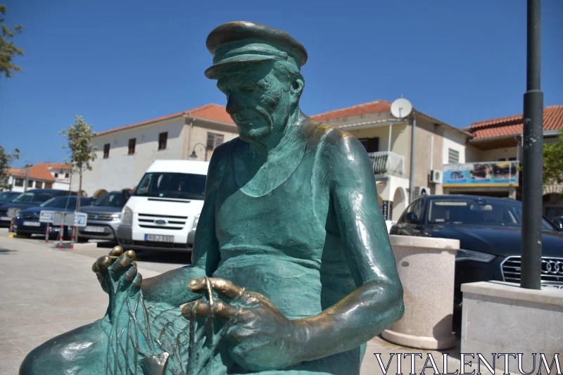
[[[365,148],[299,108],[305,48],[248,22],[207,46],[239,137],[211,158],[192,265],[141,281],[115,248],[93,266],[106,316],[30,352],[21,375],[358,375],[402,316]]]

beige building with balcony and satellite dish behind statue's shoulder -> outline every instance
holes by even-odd
[[[414,193],[441,194],[443,165],[464,163],[471,135],[415,111]],[[379,203],[386,220],[398,220],[409,203],[413,115],[398,120],[391,103],[378,100],[312,116],[340,127],[364,144],[372,160]]]

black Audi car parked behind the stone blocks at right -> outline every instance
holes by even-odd
[[[455,307],[461,284],[520,282],[522,205],[507,198],[421,196],[403,212],[389,234],[460,240],[455,263]],[[563,231],[542,218],[543,286],[563,288]]]

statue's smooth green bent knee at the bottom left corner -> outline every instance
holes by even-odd
[[[97,323],[97,322],[96,322]],[[20,365],[20,375],[96,374],[103,363],[105,333],[99,324],[81,326],[51,338],[32,350]]]

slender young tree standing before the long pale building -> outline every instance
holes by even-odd
[[[70,165],[72,172],[78,172],[80,182],[78,183],[78,197],[76,200],[76,211],[80,212],[80,197],[82,196],[82,172],[91,170],[90,162],[96,160],[96,147],[91,144],[92,136],[96,133],[92,132],[92,126],[88,125],[82,116],[76,116],[74,125],[70,125],[68,129],[61,130],[58,134],[63,134],[68,145],[70,160],[65,158],[65,163]]]

